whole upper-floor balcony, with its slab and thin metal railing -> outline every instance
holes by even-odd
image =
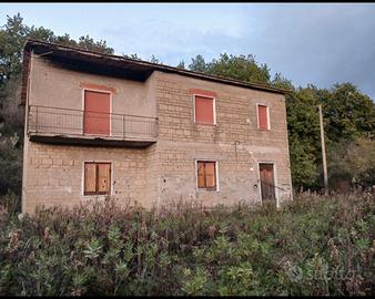
[[[146,147],[156,142],[158,118],[29,105],[28,135],[40,143]]]

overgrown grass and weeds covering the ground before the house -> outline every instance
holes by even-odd
[[[41,209],[0,220],[0,295],[374,295],[371,194],[283,210]]]

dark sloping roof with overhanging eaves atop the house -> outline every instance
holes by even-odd
[[[134,60],[120,55],[103,54],[95,51],[82,50],[62,44],[28,39],[24,43],[23,52],[22,103],[26,102],[26,78],[29,71],[31,50],[33,50],[36,54],[43,55],[58,63],[69,65],[70,68],[78,71],[120,76],[138,81],[145,81],[153,73],[153,71],[161,71],[253,90],[261,90],[281,94],[290,92],[288,90],[276,89],[265,84],[250,83],[223,76],[210,75],[201,72],[182,70],[179,68],[152,63],[143,60]]]

